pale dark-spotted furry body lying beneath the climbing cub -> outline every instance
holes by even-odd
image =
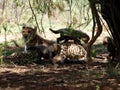
[[[86,59],[86,50],[79,44],[74,44],[74,43],[64,43],[61,45],[61,53],[64,58],[67,59]]]

